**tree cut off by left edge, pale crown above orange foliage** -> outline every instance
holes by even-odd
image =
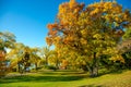
[[[0,75],[7,73],[7,51],[8,48],[13,48],[15,36],[9,32],[0,32]]]

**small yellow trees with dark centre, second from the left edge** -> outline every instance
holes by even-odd
[[[10,69],[17,69],[17,72],[22,73],[26,71],[31,64],[35,64],[36,70],[40,58],[38,57],[37,48],[29,48],[23,44],[15,44],[15,48],[12,49],[7,58],[11,60]]]

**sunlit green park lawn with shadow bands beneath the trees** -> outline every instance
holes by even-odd
[[[0,78],[0,87],[131,87],[131,71],[95,78],[76,71],[43,71]]]

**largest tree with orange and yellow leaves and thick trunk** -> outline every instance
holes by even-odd
[[[47,25],[46,41],[75,51],[83,58],[91,76],[97,76],[100,55],[118,53],[115,47],[130,23],[130,11],[123,11],[115,1],[95,2],[85,8],[84,3],[70,0],[59,5],[56,22]],[[119,54],[114,54],[114,59],[123,62]]]

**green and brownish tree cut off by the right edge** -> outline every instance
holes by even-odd
[[[131,27],[126,29],[122,36],[122,42],[117,47],[121,52],[126,63],[123,64],[126,69],[131,69]]]

